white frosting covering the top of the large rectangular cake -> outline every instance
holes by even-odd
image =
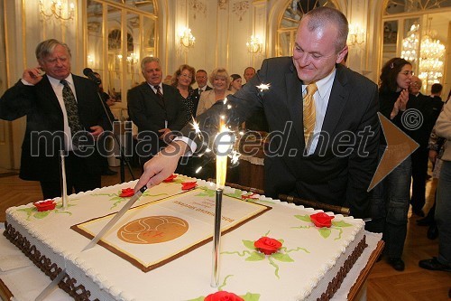
[[[214,183],[203,180],[197,182],[199,186],[209,189],[216,187]],[[80,252],[89,240],[69,227],[117,212],[124,202],[113,207],[114,202],[107,194],[118,193],[123,188],[133,188],[135,183],[136,181],[120,183],[91,192],[72,194],[69,196],[69,205],[72,206],[67,209],[72,214],[49,212],[49,215],[42,219],[33,216],[27,219],[27,213],[19,210],[32,208],[31,203],[6,210],[6,221],[52,262],[60,267],[67,266],[69,276],[75,277],[78,285],[85,286],[93,298],[142,301],[152,296],[163,301],[193,299],[214,292],[215,290],[209,287],[211,243],[184,255],[184,260],[176,259],[148,273],[133,267],[128,261],[118,258],[101,246]],[[134,206],[166,196],[155,196],[157,194],[181,193],[179,186],[179,183],[173,183],[153,187],[147,191],[150,196],[143,196]],[[235,193],[235,189],[226,187],[225,193]],[[309,253],[303,250],[290,252],[294,263],[274,260],[280,268],[280,278],[275,277],[274,268],[268,259],[249,262],[237,255],[222,254],[221,281],[232,275],[227,278],[223,289],[233,291],[237,295],[245,295],[247,292],[261,294],[261,301],[316,300],[363,239],[364,221],[335,214],[333,221],[345,221],[352,226],[341,228],[343,233],[340,240],[335,240],[338,235],[338,230],[335,229],[332,229],[330,237],[325,239],[311,223],[293,217],[321,211],[273,200],[264,195],[255,194],[253,198],[255,199],[247,201],[260,202],[272,207],[272,210],[223,235],[223,252],[243,252],[246,249],[243,240],[257,240],[269,232],[268,236],[283,239],[287,249],[304,248],[308,249]],[[55,201],[60,202],[60,198]],[[327,214],[332,215],[330,212]],[[282,224],[285,228],[281,227]],[[310,228],[296,229],[299,225]],[[275,287],[283,289],[274,289]]]

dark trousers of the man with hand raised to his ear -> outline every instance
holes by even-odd
[[[87,158],[69,152],[65,158],[66,187],[68,194],[86,192],[101,187],[99,168],[86,168]],[[60,176],[55,181],[40,181],[43,199],[52,199],[61,196]]]

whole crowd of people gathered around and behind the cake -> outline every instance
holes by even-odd
[[[198,178],[214,176],[213,167],[196,174],[198,166],[208,163],[199,161],[204,155],[199,154],[202,142],[191,123],[196,119],[203,131],[211,132],[208,123],[216,120],[227,99],[235,126],[244,123],[245,128],[278,133],[277,139],[269,140],[265,157],[265,193],[345,206],[354,217],[372,219],[367,229],[383,233],[383,254],[399,271],[405,268],[402,251],[410,205],[413,214],[424,217],[426,213],[430,159],[434,168],[441,168],[437,201],[419,223],[436,227],[439,254],[421,260],[419,266],[451,271],[451,148],[446,147],[451,140],[451,105],[444,106],[440,99],[440,84],[432,87],[430,96],[420,93],[422,83],[410,61],[387,61],[378,84],[351,71],[342,64],[348,51],[347,33],[347,20],[339,11],[328,7],[309,11],[299,22],[293,56],[266,59],[258,71],[245,68],[244,85],[239,74],[229,75],[225,68],[208,73],[188,64],[163,81],[159,59],[143,58],[144,81],[127,93],[143,168],[135,189],[161,183],[175,170]],[[58,131],[61,142],[55,150],[69,152],[68,191],[99,187],[98,154],[77,155],[84,148],[76,139],[78,131],[83,131],[96,143],[109,128],[108,116],[97,100],[98,87],[70,72],[69,47],[62,42],[41,42],[36,58],[39,67],[23,71],[22,79],[0,99],[0,118],[27,117],[21,178],[40,181],[44,198],[60,195],[59,156],[32,155],[35,149],[42,151],[41,140],[33,140],[32,133]],[[271,89],[258,88],[265,83],[271,83]],[[419,127],[406,125],[403,116],[409,110],[419,112]],[[379,160],[390,151],[378,112],[419,147],[368,192]],[[441,137],[439,143],[437,137]]]

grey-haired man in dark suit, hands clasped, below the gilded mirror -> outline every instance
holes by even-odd
[[[128,112],[138,127],[137,152],[141,165],[171,141],[172,131],[186,123],[186,113],[179,89],[163,84],[158,58],[145,57],[141,62],[145,82],[127,94]]]

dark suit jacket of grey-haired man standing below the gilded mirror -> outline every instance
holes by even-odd
[[[159,139],[168,120],[168,128],[179,131],[186,123],[185,107],[179,89],[163,84],[164,102],[153,92],[147,82],[128,90],[128,112],[133,123],[138,127],[138,155],[148,158],[158,153],[166,144]],[[145,140],[145,142],[143,141]]]

